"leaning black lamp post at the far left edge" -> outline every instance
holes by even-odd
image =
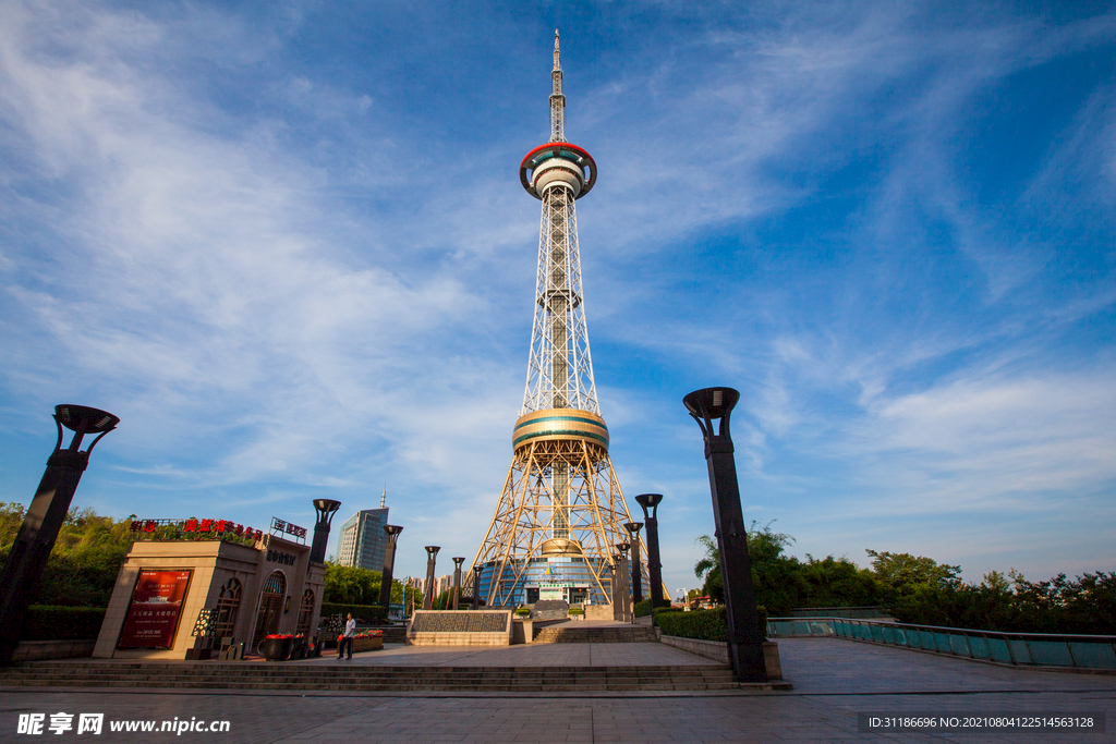
[[[0,665],[11,663],[11,655],[19,642],[23,616],[31,603],[42,569],[58,539],[58,531],[66,521],[70,501],[81,481],[81,473],[89,464],[89,454],[105,436],[121,423],[110,413],[87,406],[55,406],[55,425],[58,442],[47,458],[47,470],[39,481],[31,505],[23,516],[19,534],[8,551],[8,559],[0,574]],[[62,427],[74,432],[69,447],[62,450]],[[96,434],[89,448],[80,450],[86,434]]]

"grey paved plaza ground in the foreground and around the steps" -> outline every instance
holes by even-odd
[[[779,641],[790,693],[384,696],[312,690],[0,689],[0,742],[88,736],[100,742],[1116,742],[1116,677],[1012,669],[835,638]],[[310,664],[336,664],[315,659]],[[509,648],[389,647],[350,664],[554,666],[709,664],[658,644]],[[17,734],[20,713],[104,713],[105,719],[229,721],[228,733]],[[857,714],[1049,716],[1105,714],[1104,733],[860,733]],[[76,721],[76,716],[75,716]],[[75,726],[76,728],[76,726]]]

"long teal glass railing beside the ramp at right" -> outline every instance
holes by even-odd
[[[1116,636],[998,632],[833,617],[768,618],[767,631],[769,638],[852,638],[1012,666],[1116,669]]]

